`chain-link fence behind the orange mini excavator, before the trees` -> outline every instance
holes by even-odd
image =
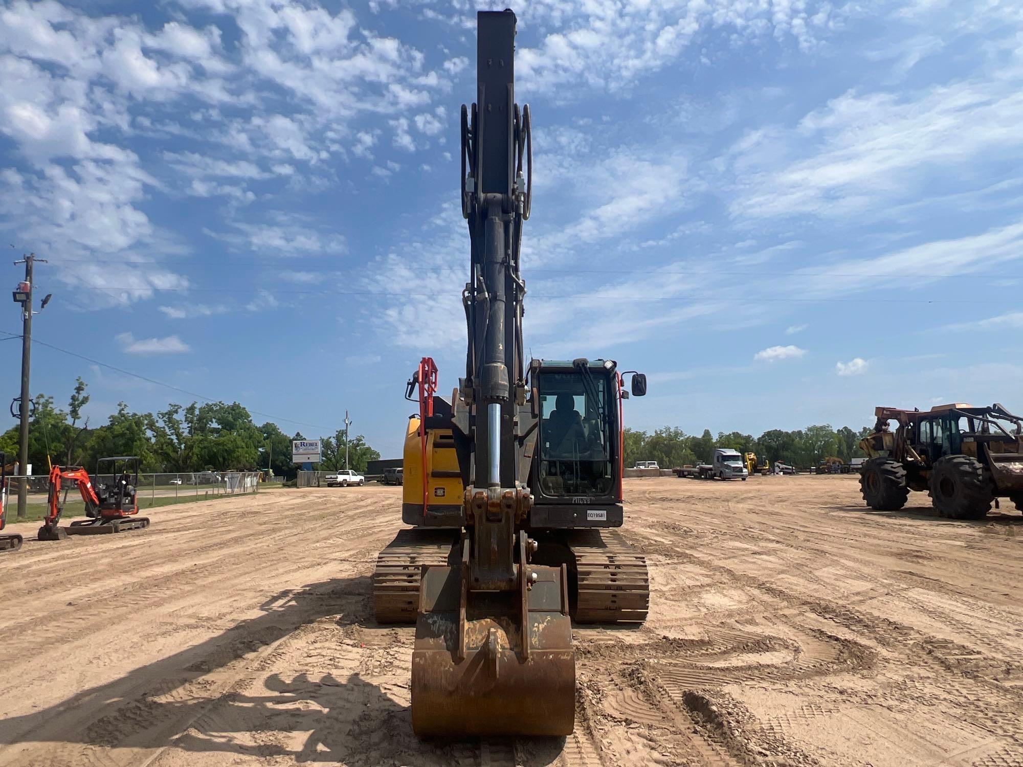
[[[27,478],[29,496],[27,514],[29,520],[42,520],[46,515],[49,499],[49,475],[35,475]],[[112,475],[90,476],[94,485],[107,484]],[[7,522],[16,522],[17,493],[23,479],[8,477],[10,491],[7,506]],[[139,509],[173,506],[177,503],[191,503],[222,498],[229,495],[246,495],[259,492],[258,471],[184,471],[181,473],[139,473],[135,486]],[[66,490],[63,505],[64,516],[85,513],[85,502],[74,481],[61,482]],[[64,495],[64,493],[61,493]]]

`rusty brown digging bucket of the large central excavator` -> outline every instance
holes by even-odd
[[[460,568],[426,570],[412,651],[418,736],[572,734],[575,650],[566,571],[529,571],[536,579],[524,592],[474,592],[468,549]]]

